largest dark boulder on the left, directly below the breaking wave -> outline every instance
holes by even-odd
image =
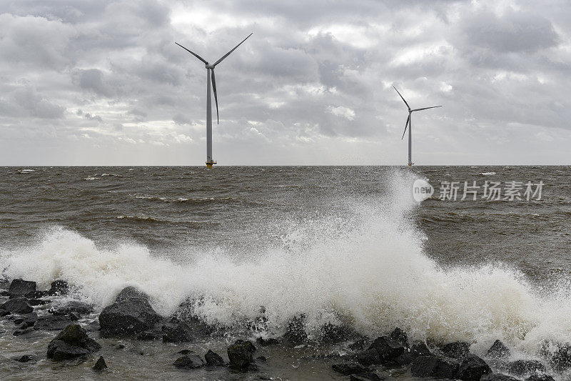
[[[131,297],[103,308],[99,325],[103,335],[133,335],[149,330],[161,317],[143,298]]]

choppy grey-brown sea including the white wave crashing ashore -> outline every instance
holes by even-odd
[[[435,198],[418,204],[412,184],[425,177]],[[571,342],[570,179],[568,167],[3,167],[0,265],[44,287],[67,279],[98,307],[128,284],[163,315],[201,297],[196,313],[236,332],[264,307],[268,335],[304,313],[315,332],[398,326],[536,358],[545,342]],[[465,181],[544,185],[540,200],[438,199],[442,182]],[[6,359],[44,352],[50,337],[34,335],[3,335]],[[137,345],[114,376],[188,377],[161,345]],[[268,351],[272,377],[344,379],[315,349]],[[81,377],[81,366],[0,361],[14,380]]]

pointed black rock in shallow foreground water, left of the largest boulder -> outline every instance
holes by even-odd
[[[51,340],[47,356],[55,361],[68,360],[89,355],[100,349],[101,345],[91,339],[81,325],[71,324]]]

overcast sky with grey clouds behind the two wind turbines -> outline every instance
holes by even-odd
[[[0,165],[571,164],[571,3],[1,1]],[[216,109],[215,109],[216,110]],[[214,111],[216,115],[216,111]]]

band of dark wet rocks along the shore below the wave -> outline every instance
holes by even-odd
[[[113,372],[105,358],[98,355],[107,340],[109,346],[116,340],[114,349],[120,351],[129,342],[162,342],[164,350],[177,343],[208,342],[212,337],[228,341],[228,332],[207,325],[196,317],[176,313],[161,317],[153,310],[148,295],[135,287],[125,287],[115,301],[101,310],[95,320],[94,307],[81,301],[69,300],[70,286],[64,280],[51,283],[49,290],[37,290],[36,282],[24,279],[7,279],[0,282],[0,319],[13,322],[14,329],[1,336],[26,337],[31,332],[54,332],[45,348],[45,358],[51,362],[76,366],[98,356],[93,372]],[[183,306],[181,306],[183,307]],[[262,311],[263,312],[263,311]],[[261,317],[263,320],[263,317]],[[96,339],[91,337],[95,335]],[[225,352],[208,349],[204,355],[193,350],[176,352],[176,360],[169,366],[185,372],[198,369],[220,370],[228,375],[243,374],[256,379],[266,377],[258,367],[271,367],[259,348],[287,351],[305,345],[336,345],[337,354],[329,354],[331,377],[339,380],[385,380],[398,377],[418,377],[450,380],[482,381],[550,381],[552,372],[565,372],[571,368],[571,346],[557,345],[556,350],[542,349],[545,363],[539,360],[514,360],[510,349],[496,340],[489,350],[479,357],[470,352],[468,342],[429,343],[410,342],[403,330],[395,328],[388,335],[371,340],[359,335],[348,326],[327,324],[321,327],[320,341],[310,340],[305,330],[305,318],[299,315],[290,320],[285,335],[262,337],[254,331],[242,339],[234,337]],[[246,339],[251,340],[246,340]],[[121,347],[122,346],[122,347]],[[225,359],[225,356],[227,360]],[[12,358],[15,362],[34,362],[37,354]],[[324,356],[325,357],[325,356]],[[93,360],[91,360],[93,361]],[[225,373],[226,374],[226,373]],[[214,373],[212,375],[215,375]],[[189,375],[189,377],[193,377]],[[221,375],[216,373],[216,378]],[[224,377],[222,377],[224,378]]]

